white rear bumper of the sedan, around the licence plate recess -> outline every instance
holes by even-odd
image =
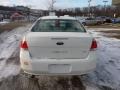
[[[21,68],[24,72],[32,75],[82,75],[96,68],[95,51],[91,51],[85,59],[31,59],[27,52],[20,52]],[[27,63],[27,64],[26,64]],[[69,65],[69,72],[51,73],[50,65]],[[58,69],[59,72],[59,69]]]

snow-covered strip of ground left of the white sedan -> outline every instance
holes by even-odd
[[[28,31],[28,27],[30,25],[0,34],[0,81],[10,75],[19,73],[19,65],[15,63],[7,64],[7,62],[10,60],[10,57],[14,57],[19,53],[20,39]],[[14,58],[14,60],[17,60],[17,58]]]

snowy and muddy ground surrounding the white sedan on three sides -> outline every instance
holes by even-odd
[[[120,41],[99,36],[98,64],[84,76],[36,76],[21,71],[19,43],[31,25],[0,34],[0,90],[120,90]],[[115,53],[113,53],[115,52]]]

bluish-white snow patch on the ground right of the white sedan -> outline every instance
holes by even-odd
[[[96,71],[85,77],[86,81],[108,88],[104,90],[120,90],[120,40],[101,36],[95,29],[90,31],[98,42],[98,63]]]

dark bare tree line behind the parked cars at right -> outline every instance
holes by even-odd
[[[88,7],[74,8],[74,9],[59,9],[55,10],[57,16],[70,15],[70,16],[108,16],[108,17],[119,17],[120,6],[92,6],[90,12]]]

